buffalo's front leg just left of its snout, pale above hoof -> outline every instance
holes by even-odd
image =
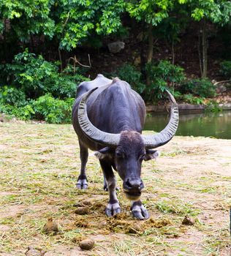
[[[108,162],[103,159],[99,160],[99,162],[109,191],[109,202],[106,206],[105,213],[108,217],[111,217],[121,212],[121,207],[119,206],[118,199],[116,197],[116,177],[114,176],[113,169]]]

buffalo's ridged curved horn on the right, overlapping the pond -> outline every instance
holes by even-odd
[[[167,91],[167,90],[166,90]],[[179,121],[179,113],[178,113],[178,106],[175,102],[175,99],[169,91],[167,91],[168,97],[172,104],[171,112],[170,112],[170,121],[168,122],[167,126],[159,133],[155,135],[143,135],[143,142],[145,143],[145,148],[157,148],[168,143],[178,128],[178,121]]]

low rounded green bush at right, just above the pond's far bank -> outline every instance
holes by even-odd
[[[199,97],[214,97],[216,87],[207,78],[186,80],[180,88],[183,94],[194,94]]]

